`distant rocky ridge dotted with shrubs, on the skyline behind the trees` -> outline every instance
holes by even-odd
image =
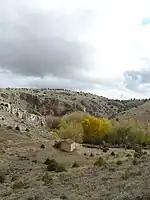
[[[39,115],[63,116],[72,111],[84,111],[95,116],[113,118],[118,113],[138,107],[149,99],[114,100],[102,96],[65,89],[6,88],[0,90],[0,100]]]

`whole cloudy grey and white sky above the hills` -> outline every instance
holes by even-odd
[[[0,0],[0,87],[150,97],[149,0]]]

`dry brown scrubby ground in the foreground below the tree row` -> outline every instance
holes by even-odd
[[[0,183],[0,200],[150,199],[150,152],[133,165],[131,150],[109,149],[104,153],[77,145],[75,152],[65,153],[53,148],[48,136],[37,133],[37,139],[33,135],[1,128],[0,172],[5,180]],[[99,156],[106,161],[105,166],[94,166]],[[67,171],[48,172],[44,164],[47,157],[56,159]],[[79,167],[71,168],[75,161]]]

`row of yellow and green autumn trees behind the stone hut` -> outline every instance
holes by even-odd
[[[62,117],[57,134],[76,142],[100,144],[131,145],[150,144],[150,123],[140,122],[134,118],[124,121],[111,121],[83,112],[73,112]]]

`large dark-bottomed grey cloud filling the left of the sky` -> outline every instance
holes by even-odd
[[[2,9],[4,6],[0,13]],[[1,14],[2,69],[23,76],[44,77],[49,74],[63,78],[79,77],[82,70],[90,69],[92,47],[79,42],[78,35],[86,32],[93,17],[91,11],[58,15],[33,11],[29,7],[23,11],[17,4],[13,11],[10,18]]]

